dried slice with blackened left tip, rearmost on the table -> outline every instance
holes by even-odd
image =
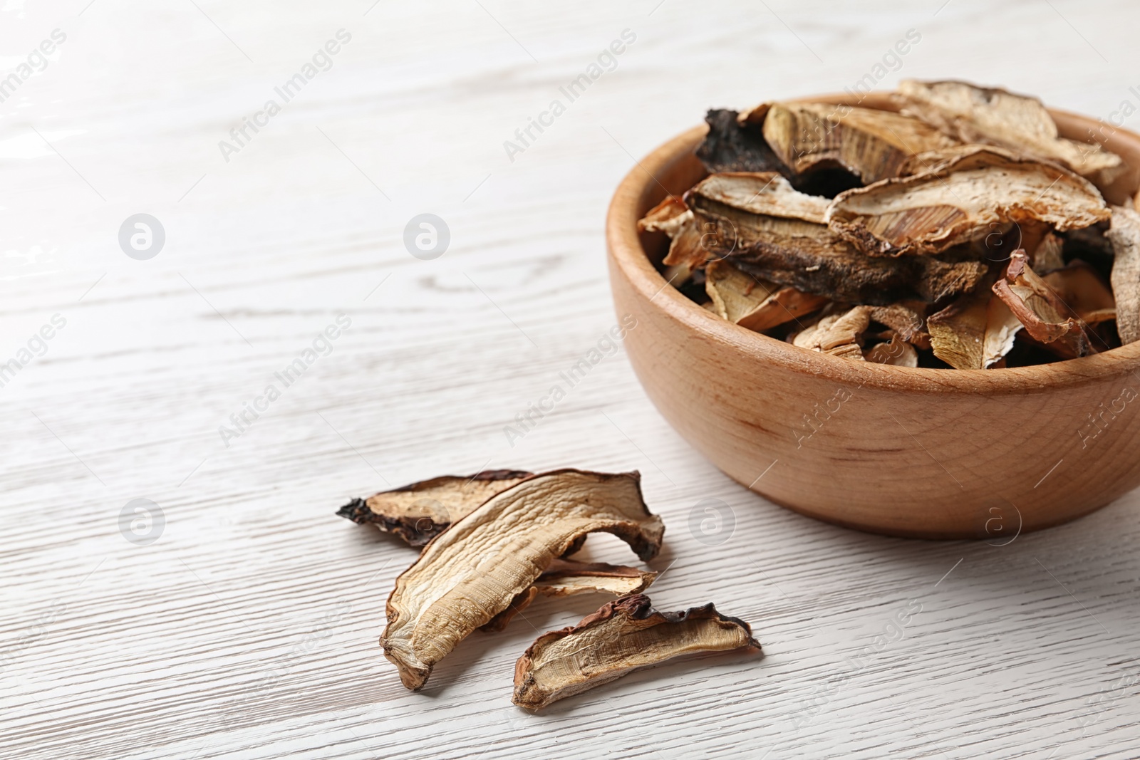
[[[410,546],[423,546],[500,491],[530,477],[520,469],[484,469],[474,475],[443,475],[367,499],[352,499],[336,514],[364,525],[376,525]]]

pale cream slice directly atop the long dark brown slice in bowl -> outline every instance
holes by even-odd
[[[686,195],[699,195],[754,214],[803,219],[816,224],[826,223],[824,215],[830,203],[823,196],[808,195],[792,188],[791,183],[776,172],[710,174]]]

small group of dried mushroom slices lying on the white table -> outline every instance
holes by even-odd
[[[642,561],[661,548],[641,475],[556,469],[446,475],[353,499],[337,512],[423,547],[388,598],[384,656],[409,689],[475,629],[503,630],[538,595],[619,597],[577,626],[549,631],[515,665],[515,704],[538,709],[633,670],[698,652],[759,651],[751,628],[711,604],[653,610],[644,591],[658,573],[569,558],[603,531]]]

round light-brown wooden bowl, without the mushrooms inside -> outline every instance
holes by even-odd
[[[885,93],[858,105],[895,109]],[[1072,139],[1101,129],[1050,113]],[[668,243],[638,234],[637,220],[706,175],[693,155],[705,132],[684,132],[629,172],[610,203],[606,243],[617,312],[637,319],[625,343],[642,385],[725,474],[839,525],[992,542],[1140,485],[1140,343],[1034,367],[891,367],[754,333],[668,285],[654,268]],[[1140,186],[1140,136],[1117,129],[1104,141],[1132,170],[1106,196],[1129,203]]]

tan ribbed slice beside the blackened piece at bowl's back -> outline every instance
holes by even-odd
[[[895,177],[917,153],[958,145],[911,116],[822,103],[772,104],[764,138],[797,174],[841,166],[864,183]]]

